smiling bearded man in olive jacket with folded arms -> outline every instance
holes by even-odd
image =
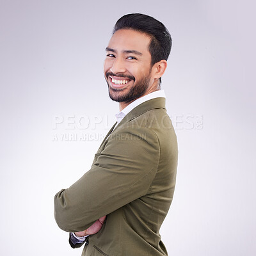
[[[119,102],[117,122],[92,168],[54,198],[56,222],[73,248],[84,244],[83,255],[167,255],[159,228],[172,202],[178,151],[160,84],[171,46],[168,30],[147,15],[115,24],[104,76]]]

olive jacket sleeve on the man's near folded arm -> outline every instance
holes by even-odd
[[[118,129],[109,136],[92,168],[54,197],[58,226],[67,232],[85,230],[102,216],[146,195],[159,154],[159,141],[150,129]]]

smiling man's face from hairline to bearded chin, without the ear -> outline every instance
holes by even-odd
[[[111,37],[104,76],[112,100],[129,103],[147,93],[154,81],[149,43],[149,36],[132,29],[120,29]]]

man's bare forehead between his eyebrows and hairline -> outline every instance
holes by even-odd
[[[148,45],[150,36],[133,29],[119,29],[109,40],[108,47],[116,51],[135,50],[150,54]]]

